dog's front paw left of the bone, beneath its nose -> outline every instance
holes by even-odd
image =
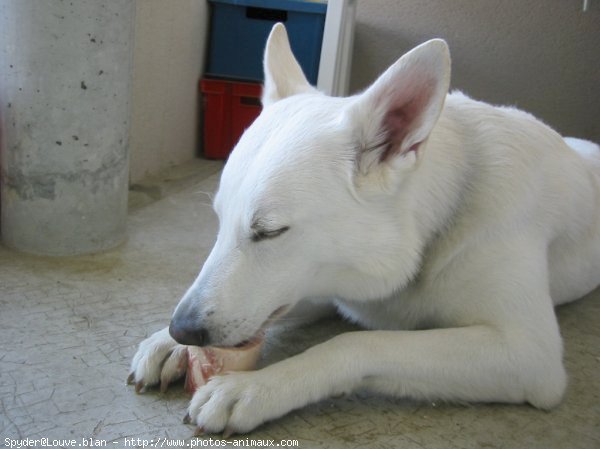
[[[127,382],[135,384],[137,393],[160,382],[160,391],[164,392],[171,382],[183,377],[186,370],[187,349],[173,340],[165,328],[140,343],[131,361]]]

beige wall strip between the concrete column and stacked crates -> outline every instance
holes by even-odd
[[[130,182],[198,154],[205,0],[136,0]]]

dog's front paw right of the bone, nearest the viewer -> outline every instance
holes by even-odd
[[[216,376],[196,391],[185,422],[195,423],[200,432],[223,432],[225,438],[250,432],[290,411],[283,392],[261,371]]]

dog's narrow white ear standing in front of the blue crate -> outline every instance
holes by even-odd
[[[291,95],[314,90],[302,73],[300,64],[294,58],[285,26],[281,23],[273,26],[267,39],[264,70],[265,86],[262,94],[264,106]]]

